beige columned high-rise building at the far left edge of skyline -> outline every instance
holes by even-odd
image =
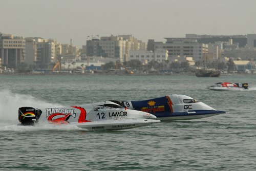
[[[17,69],[25,58],[25,39],[0,33],[0,58],[3,66]]]

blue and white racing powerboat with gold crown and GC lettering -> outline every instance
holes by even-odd
[[[115,102],[128,109],[151,113],[161,121],[200,119],[226,113],[189,96],[178,94],[148,100]]]

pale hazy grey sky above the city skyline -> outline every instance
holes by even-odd
[[[256,33],[255,0],[0,0],[0,32],[53,38],[81,48],[87,37],[132,34],[147,41],[186,33]]]

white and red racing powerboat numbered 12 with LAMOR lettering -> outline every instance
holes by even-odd
[[[21,125],[69,124],[88,131],[132,129],[160,122],[150,113],[127,109],[111,101],[62,108],[22,107],[18,109],[18,120]]]

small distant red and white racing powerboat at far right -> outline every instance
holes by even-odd
[[[208,89],[217,91],[248,90],[248,83],[217,82]]]

